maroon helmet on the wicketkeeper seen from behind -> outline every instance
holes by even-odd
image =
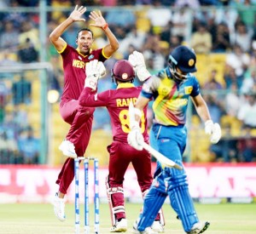
[[[117,80],[126,82],[134,79],[135,71],[128,60],[119,60],[113,66],[112,75]]]

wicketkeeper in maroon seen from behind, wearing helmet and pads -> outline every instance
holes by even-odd
[[[135,71],[128,60],[119,60],[112,69],[113,82],[117,84],[116,89],[107,90],[96,94],[97,79],[100,77],[101,65],[96,60],[86,65],[86,74],[95,74],[94,81],[85,80],[84,90],[79,97],[80,106],[106,106],[111,117],[113,142],[108,146],[109,164],[108,177],[106,180],[108,202],[112,218],[111,232],[127,231],[127,220],[125,216],[125,197],[123,181],[128,165],[132,163],[137,174],[143,196],[148,192],[152,184],[151,157],[148,151],[137,151],[127,143],[129,128],[129,105],[135,103],[142,87],[135,87],[133,81]],[[88,74],[87,74],[88,76]],[[147,106],[142,110],[142,121],[140,124],[143,140],[148,142]],[[161,211],[155,214],[152,222],[154,231],[164,231],[164,220]]]

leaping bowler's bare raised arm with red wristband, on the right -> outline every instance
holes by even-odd
[[[89,15],[91,20],[94,20],[94,24],[90,24],[90,26],[100,27],[108,37],[109,44],[104,47],[103,53],[106,57],[112,56],[112,54],[119,49],[119,41],[113,35],[113,32],[109,29],[108,23],[103,18],[101,11],[92,11]]]

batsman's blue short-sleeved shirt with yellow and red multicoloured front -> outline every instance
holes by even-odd
[[[183,83],[172,78],[169,67],[143,83],[141,95],[153,99],[154,123],[178,126],[186,123],[189,96],[200,94],[198,80],[192,74]]]

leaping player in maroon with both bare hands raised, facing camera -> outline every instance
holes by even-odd
[[[84,88],[84,79],[86,80],[85,65],[91,60],[103,62],[119,48],[119,43],[108,28],[101,12],[92,11],[89,17],[95,21],[90,26],[101,28],[108,37],[109,44],[104,48],[91,49],[93,32],[89,28],[83,28],[78,32],[76,38],[78,47],[76,49],[61,38],[62,33],[67,30],[68,26],[74,22],[85,21],[81,18],[85,11],[86,8],[83,6],[76,6],[67,20],[64,20],[49,35],[51,43],[61,54],[63,60],[64,88],[60,103],[61,117],[71,125],[66,139],[59,147],[63,154],[68,157],[56,180],[56,184],[60,186],[55,196],[54,209],[56,217],[61,221],[66,219],[64,196],[74,177],[73,158],[84,156],[90,140],[93,112],[95,111],[94,107],[79,106],[79,95]]]

